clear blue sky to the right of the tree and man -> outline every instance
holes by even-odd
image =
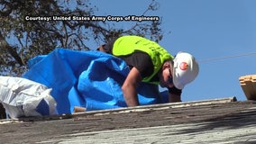
[[[96,15],[142,15],[149,0],[92,1]],[[197,79],[182,92],[182,101],[233,97],[246,100],[239,77],[256,74],[256,1],[156,0],[162,17],[160,45],[170,54],[191,53],[199,63]],[[115,22],[126,29],[128,22]],[[96,48],[95,43],[91,47]],[[248,54],[248,55],[247,55]],[[242,56],[243,57],[233,57]],[[233,58],[228,58],[233,57]],[[160,88],[160,90],[162,90]]]

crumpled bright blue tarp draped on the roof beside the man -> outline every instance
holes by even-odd
[[[32,58],[23,77],[52,88],[58,113],[71,113],[74,106],[87,111],[126,107],[121,86],[129,67],[121,58],[100,51],[55,49]],[[158,85],[142,83],[140,104],[162,103]]]

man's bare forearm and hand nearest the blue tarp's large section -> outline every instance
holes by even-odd
[[[128,76],[126,77],[122,86],[123,96],[127,106],[139,105],[136,89],[141,82],[142,76],[139,70],[136,67],[133,67]]]

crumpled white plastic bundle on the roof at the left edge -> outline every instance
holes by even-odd
[[[56,102],[45,85],[22,77],[0,76],[0,103],[11,118],[56,114]]]

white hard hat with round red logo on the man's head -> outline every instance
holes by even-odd
[[[196,59],[187,52],[178,52],[173,59],[173,85],[183,89],[198,75],[199,66]]]

